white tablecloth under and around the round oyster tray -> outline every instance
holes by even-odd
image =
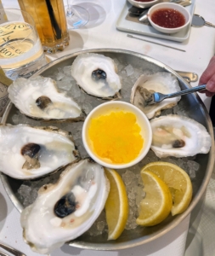
[[[168,67],[180,71],[189,71],[197,73],[199,78],[201,73],[207,67],[209,60],[214,55],[215,30],[212,27],[202,26],[201,28],[191,27],[190,38],[183,43],[173,42],[158,38],[149,38],[141,35],[136,35],[139,38],[148,39],[161,44],[167,44],[172,47],[184,49],[186,52],[181,52],[175,49],[166,48],[156,44],[146,43],[134,38],[127,38],[127,32],[120,32],[116,30],[116,20],[118,19],[124,7],[126,0],[74,0],[72,3],[81,5],[88,9],[90,20],[88,25],[78,30],[70,30],[70,45],[64,51],[57,54],[50,55],[50,58],[59,58],[61,56],[80,51],[82,49],[127,49],[139,52],[144,55],[165,63]],[[19,8],[17,0],[2,0],[4,8]],[[66,4],[66,3],[65,3]],[[215,5],[214,0],[196,0],[195,14],[201,15],[205,20],[215,24]],[[198,82],[192,83],[192,86],[198,85]],[[204,94],[200,94],[201,100],[206,105],[207,109],[210,107],[211,99]],[[215,214],[213,215],[215,216]],[[177,255],[184,254],[185,238],[189,227],[190,216],[175,229],[168,232],[167,235],[155,242],[150,242],[144,246],[130,248],[123,251],[114,252],[95,252],[83,250],[80,248],[69,247],[67,245],[55,250],[51,256],[65,256],[65,255],[102,255],[102,256],[116,256],[116,255],[139,255],[142,256],[159,256],[159,255],[173,255],[173,252],[178,251]],[[215,221],[214,221],[215,223]],[[22,230],[20,227],[20,213],[14,208],[13,204],[8,198],[8,195],[0,183],[0,241],[7,243],[12,247],[20,249],[26,255],[39,255],[32,253],[30,248],[22,241]],[[214,229],[215,230],[215,229]],[[178,242],[178,241],[181,241]],[[208,247],[207,243],[207,247]],[[210,254],[192,254],[189,248],[186,251],[187,256],[212,256],[215,255],[215,247],[213,243],[210,244]],[[168,249],[167,249],[168,247]],[[192,251],[192,252],[191,252]],[[168,252],[168,253],[167,253]],[[213,252],[213,253],[211,253]],[[174,255],[176,255],[174,253]]]

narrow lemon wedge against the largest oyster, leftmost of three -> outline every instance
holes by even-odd
[[[122,177],[115,170],[105,168],[105,174],[110,181],[110,192],[105,203],[108,240],[116,240],[127,223],[127,193]]]

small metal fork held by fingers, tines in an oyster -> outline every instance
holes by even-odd
[[[162,102],[163,100],[165,100],[167,98],[182,96],[182,95],[186,95],[186,94],[189,94],[189,93],[192,93],[195,91],[199,91],[199,90],[206,90],[206,84],[195,86],[191,89],[181,90],[181,91],[170,93],[170,94],[162,94],[160,92],[151,93],[149,91],[149,95],[147,95],[145,102],[147,103],[147,105],[152,105],[152,104],[156,104],[158,102]]]

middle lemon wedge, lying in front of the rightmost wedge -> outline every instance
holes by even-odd
[[[171,212],[172,196],[167,184],[153,172],[141,172],[141,177],[146,195],[140,202],[136,222],[143,226],[153,226],[161,223]]]

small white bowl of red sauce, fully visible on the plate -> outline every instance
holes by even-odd
[[[184,15],[185,18],[185,24],[184,26],[179,26],[176,28],[167,28],[158,26],[155,22],[151,20],[151,15],[158,9],[175,9],[178,10],[182,15]],[[153,26],[157,31],[167,33],[167,34],[173,34],[176,32],[179,32],[183,30],[186,26],[189,26],[190,24],[190,12],[185,9],[183,6],[177,4],[177,3],[157,3],[156,5],[152,6],[148,12],[148,19],[150,20],[151,26]]]

